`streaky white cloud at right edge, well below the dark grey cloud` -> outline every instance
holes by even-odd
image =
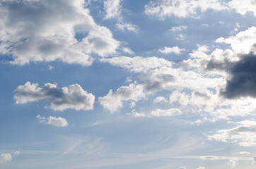
[[[256,122],[245,120],[238,123],[237,127],[228,130],[218,130],[216,134],[208,136],[220,142],[238,142],[240,146],[256,145]]]

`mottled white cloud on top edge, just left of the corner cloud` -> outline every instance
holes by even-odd
[[[219,0],[158,0],[150,1],[149,4],[146,4],[145,13],[164,20],[166,16],[172,15],[178,18],[197,17],[198,9],[204,13],[208,9],[220,11],[225,8]]]

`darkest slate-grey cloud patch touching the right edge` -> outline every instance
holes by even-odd
[[[256,97],[256,56],[243,56],[230,70],[231,79],[227,80],[226,89],[221,92],[228,99],[243,96]]]

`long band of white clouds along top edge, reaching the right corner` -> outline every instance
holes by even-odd
[[[240,1],[240,0],[157,0],[150,1],[145,5],[146,15],[153,15],[164,20],[167,16],[175,16],[178,18],[193,17],[197,18],[200,13],[207,10],[222,11],[235,9],[237,13],[245,15],[252,12],[255,16],[256,4],[255,1]]]

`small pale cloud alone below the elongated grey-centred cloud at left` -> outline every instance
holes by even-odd
[[[66,122],[66,119],[65,118],[61,118],[61,117],[56,118],[56,117],[52,117],[50,115],[50,117],[46,119],[45,117],[41,117],[41,115],[37,115],[37,118],[40,119],[40,123],[54,125],[54,126],[57,126],[57,127],[66,127],[66,126],[69,125]]]

